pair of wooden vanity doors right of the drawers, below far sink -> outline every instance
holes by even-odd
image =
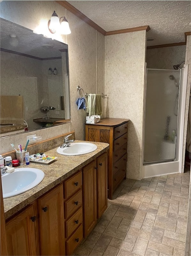
[[[86,165],[82,173],[86,237],[107,208],[107,153]]]

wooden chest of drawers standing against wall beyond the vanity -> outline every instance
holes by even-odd
[[[129,119],[103,118],[97,124],[85,124],[86,140],[110,144],[108,152],[108,198],[126,177],[127,131]]]

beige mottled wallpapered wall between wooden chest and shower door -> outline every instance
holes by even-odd
[[[146,31],[106,36],[105,116],[129,118],[127,177],[141,179]]]

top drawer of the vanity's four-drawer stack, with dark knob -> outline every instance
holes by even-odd
[[[64,198],[72,196],[82,186],[82,172],[75,174],[70,179],[64,181]]]

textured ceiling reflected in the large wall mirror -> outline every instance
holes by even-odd
[[[0,19],[0,47],[15,52],[21,52],[38,58],[60,57],[61,49],[67,45],[59,41],[34,34],[30,29],[24,28],[11,21]],[[10,34],[16,34],[19,44],[15,47],[9,43]],[[43,44],[50,44],[51,49],[43,48]]]

